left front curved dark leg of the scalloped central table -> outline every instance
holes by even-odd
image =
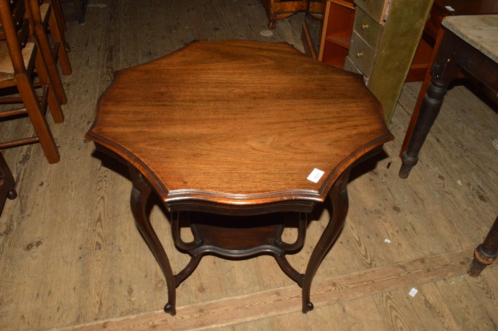
[[[152,250],[164,277],[166,278],[168,302],[164,306],[164,312],[174,316],[176,314],[176,286],[173,278],[173,271],[171,270],[171,265],[169,264],[169,259],[164,251],[164,247],[150,224],[149,217],[145,210],[151,188],[143,179],[142,175],[132,165],[128,165],[128,169],[131,182],[133,183],[130,197],[131,213],[133,214],[138,229],[147,241],[147,244]]]

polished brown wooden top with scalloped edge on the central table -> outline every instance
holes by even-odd
[[[195,41],[119,71],[86,137],[166,205],[323,201],[349,165],[394,138],[360,75],[244,40]]]

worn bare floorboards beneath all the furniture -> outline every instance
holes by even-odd
[[[61,162],[48,165],[40,145],[3,151],[19,196],[0,218],[0,330],[498,330],[498,268],[466,274],[498,214],[496,106],[463,86],[449,91],[419,164],[401,180],[398,151],[420,83],[403,89],[385,154],[354,171],[345,227],[312,285],[314,311],[300,312],[299,287],[271,257],[206,256],[177,289],[177,316],[161,312],[165,282],[133,223],[127,171],[83,138],[97,99],[115,70],[193,39],[302,50],[303,18],[278,21],[265,36],[259,0],[91,0],[86,24],[68,23],[66,119],[48,115]],[[26,120],[0,122],[3,140],[32,132]],[[174,248],[157,200],[151,208],[179,271],[188,257]],[[298,270],[329,209],[317,206],[304,248],[289,257]]]

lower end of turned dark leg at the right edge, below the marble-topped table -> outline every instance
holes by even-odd
[[[477,246],[474,252],[474,260],[472,261],[467,273],[469,276],[477,277],[488,265],[493,263],[498,256],[498,216],[491,226],[488,235],[484,242]]]

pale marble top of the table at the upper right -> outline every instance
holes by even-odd
[[[442,24],[498,63],[498,14],[448,16]]]

